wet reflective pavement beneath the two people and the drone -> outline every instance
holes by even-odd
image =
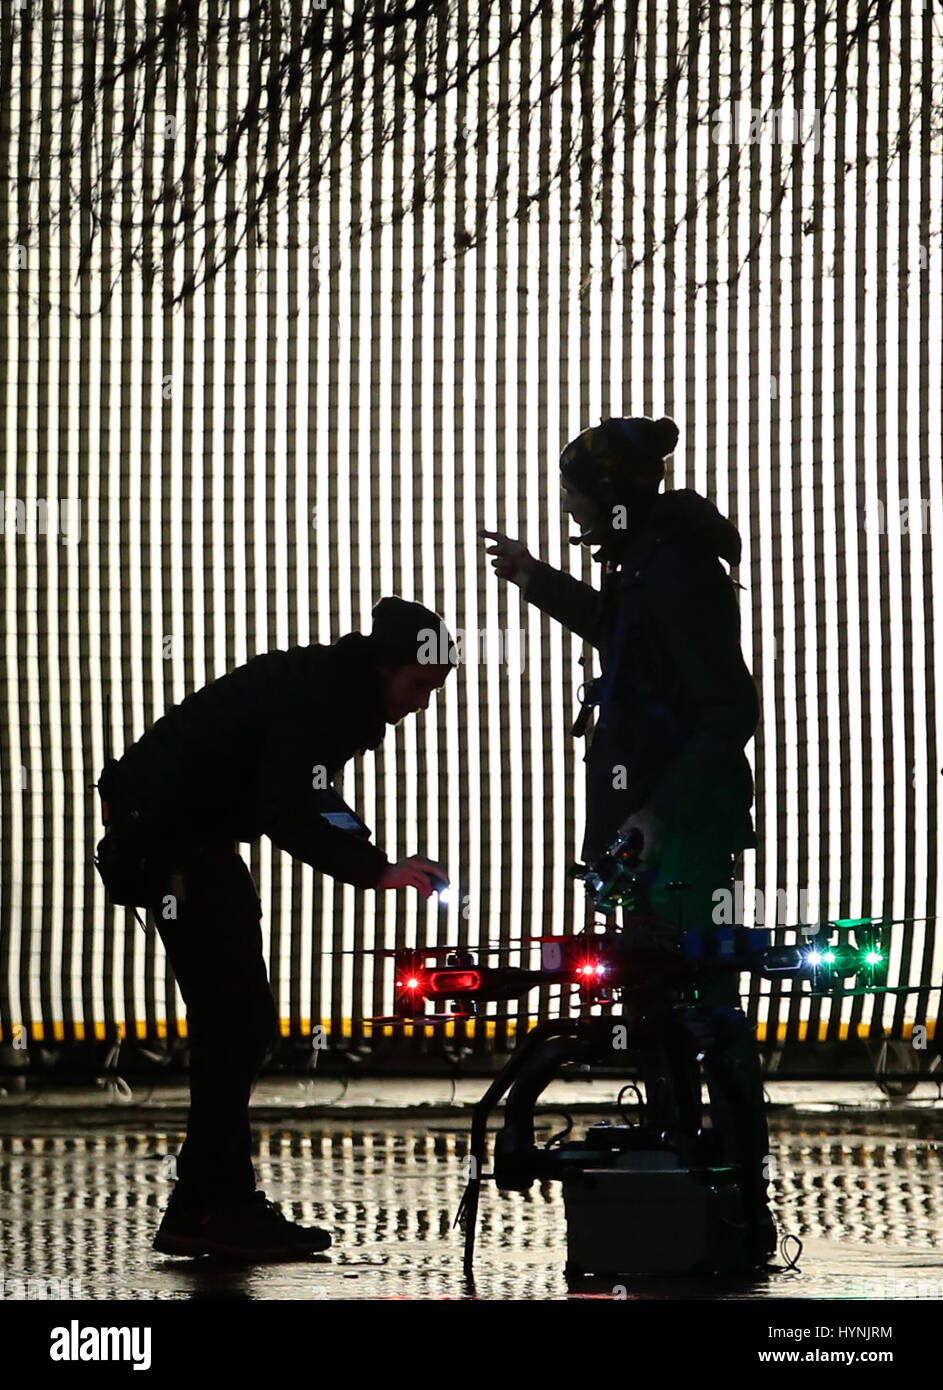
[[[754,1282],[569,1283],[559,1183],[481,1198],[476,1282],[452,1222],[483,1081],[338,1087],[266,1081],[253,1101],[259,1183],[287,1215],[325,1226],[302,1264],[231,1266],[152,1250],[172,1187],[185,1091],[36,1093],[0,1099],[0,1297],[28,1280],[85,1300],[939,1300],[943,1104],[935,1086],[886,1101],[862,1083],[771,1083],[773,1209],[797,1268]],[[467,1093],[467,1094],[466,1094]],[[538,1140],[604,1109],[587,1080],[547,1095]],[[110,1101],[110,1104],[108,1104]],[[552,1109],[555,1112],[552,1112]],[[376,1113],[370,1113],[374,1111]],[[782,1264],[782,1261],[780,1261]],[[36,1286],[39,1287],[39,1286]]]

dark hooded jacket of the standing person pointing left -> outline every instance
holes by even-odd
[[[643,808],[669,833],[723,827],[732,853],[755,845],[744,746],[759,701],[718,559],[739,564],[740,549],[736,527],[707,498],[663,492],[602,589],[538,563],[523,591],[599,651],[590,698],[611,689],[586,753],[586,860]]]

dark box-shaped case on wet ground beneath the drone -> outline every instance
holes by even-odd
[[[675,1155],[622,1155],[618,1168],[563,1179],[570,1275],[726,1273],[748,1268],[730,1168],[669,1166]]]

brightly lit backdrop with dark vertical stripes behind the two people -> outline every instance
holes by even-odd
[[[382,594],[437,607],[471,659],[344,792],[458,892],[360,894],[253,847],[284,1030],[387,1012],[374,948],[581,923],[581,645],[477,531],[598,582],[556,457],[622,413],[679,421],[669,485],[744,537],[745,892],[783,892],[780,922],[800,891],[812,920],[919,919],[892,977],[939,981],[939,13],[259,13],[264,38],[210,7],[171,63],[153,4],[3,3],[3,1038],[182,1030],[163,949],[90,867],[97,770]],[[51,512],[70,500],[81,532]],[[752,1009],[835,1037],[926,1002]]]

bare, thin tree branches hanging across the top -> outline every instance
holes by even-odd
[[[558,18],[552,0],[530,0],[516,22],[508,24],[502,0],[481,0],[471,22],[488,25],[492,14],[501,14],[502,24],[498,40],[470,61],[470,54],[459,51],[453,0],[391,6],[382,0],[348,0],[346,10],[339,4],[323,8],[321,3],[253,0],[246,6],[239,0],[217,0],[210,10],[200,0],[164,0],[147,11],[143,26],[135,26],[132,15],[125,28],[129,11],[110,13],[111,29],[106,31],[104,7],[88,0],[82,14],[82,81],[74,93],[64,95],[65,113],[71,108],[78,120],[64,118],[61,126],[75,132],[68,136],[72,146],[67,153],[71,165],[83,171],[74,189],[75,221],[83,228],[79,274],[92,265],[96,246],[107,246],[113,238],[121,245],[118,274],[104,288],[106,299],[129,265],[139,265],[153,282],[157,275],[168,274],[167,267],[182,250],[186,268],[178,272],[175,284],[164,285],[166,302],[181,303],[224,271],[250,239],[257,246],[274,243],[280,235],[280,208],[289,197],[302,196],[299,190],[314,188],[327,178],[348,178],[355,147],[363,161],[380,157],[394,135],[405,147],[412,147],[424,122],[433,117],[441,131],[456,97],[495,64],[501,71],[513,71],[527,51],[523,65],[530,71],[534,26]],[[712,26],[716,31],[725,22],[725,13],[700,0],[694,11],[695,35],[708,33]],[[826,46],[833,54],[835,71],[825,93],[825,110],[836,99],[853,51],[880,43],[882,35],[887,40],[890,15],[892,0],[862,0],[851,28],[840,32],[835,6],[815,14],[805,51]],[[636,122],[630,99],[609,103],[605,113],[594,103],[594,82],[602,61],[601,25],[612,18],[613,0],[581,0],[567,29],[561,22],[554,24],[551,61],[545,64],[541,50],[545,65],[535,72],[533,90],[522,92],[512,81],[503,97],[488,97],[478,142],[488,132],[512,129],[515,122],[527,129],[551,100],[566,99],[565,85],[579,82],[583,93],[580,108],[572,113],[569,136],[554,150],[549,170],[544,165],[535,175],[524,172],[520,185],[509,188],[512,165],[509,160],[502,161],[491,171],[484,195],[476,190],[477,225],[459,229],[453,247],[438,247],[440,263],[467,253],[488,235],[501,200],[509,200],[513,207],[509,215],[529,217],[535,206],[548,204],[562,181],[572,181],[574,174],[577,200],[573,211],[595,218],[599,225],[601,210],[611,197],[606,181],[612,177],[615,152],[652,122],[658,125],[659,138],[673,138],[672,131],[662,128],[662,111],[691,79],[690,35],[688,42],[677,47],[672,71],[650,92]],[[6,122],[6,129],[14,79],[10,50],[17,24],[24,22],[22,11],[19,19],[11,19],[4,7],[0,122]],[[626,43],[613,57],[615,68],[608,82],[609,90],[630,95],[637,67],[636,0],[630,0],[624,22]],[[933,18],[925,17],[925,22],[932,24]],[[762,64],[765,53],[757,57]],[[800,53],[797,70],[803,61],[804,53]],[[766,64],[766,74],[773,63]],[[238,86],[232,104],[227,83],[234,72]],[[359,79],[355,74],[360,74]],[[231,103],[218,132],[209,129],[209,122],[216,120],[211,93],[217,75]],[[779,90],[787,78],[784,74],[773,76]],[[364,81],[370,83],[370,101],[380,110],[376,145],[373,124],[363,121]],[[401,106],[394,103],[396,90],[401,99],[405,96]],[[729,93],[732,101],[739,96],[733,90]],[[108,110],[118,117],[117,135],[111,126],[106,128]],[[935,110],[939,113],[939,104]],[[394,131],[398,118],[399,126]],[[154,129],[163,120],[172,128],[168,135],[160,125]],[[894,132],[882,156],[885,167],[907,147],[911,129],[912,122],[908,122]],[[677,138],[684,139],[686,132]],[[149,167],[143,157],[145,142],[152,157],[157,153],[156,181],[150,186],[145,181]],[[465,167],[467,145],[469,136],[462,131],[456,131],[448,149],[441,139],[434,146],[430,142],[426,165],[412,172],[412,188],[401,188],[398,206],[387,215],[402,221],[428,200],[448,199]],[[26,146],[35,147],[32,142]],[[801,189],[797,154],[771,193],[765,224],[776,215],[790,190]],[[31,183],[40,178],[40,157],[32,156],[25,175]],[[855,154],[855,161],[867,158],[865,152]],[[718,170],[697,196],[684,202],[675,225],[662,228],[663,235],[647,243],[643,257],[633,264],[661,254],[683,227],[693,228],[705,199],[716,199],[736,167],[736,160],[730,160],[726,168]],[[32,199],[25,203],[33,206]],[[371,214],[374,224],[378,215]],[[57,207],[39,208],[33,225],[21,235],[50,228],[57,217]],[[612,228],[605,231],[606,235],[613,232]],[[757,250],[758,245],[750,249],[747,261]]]

